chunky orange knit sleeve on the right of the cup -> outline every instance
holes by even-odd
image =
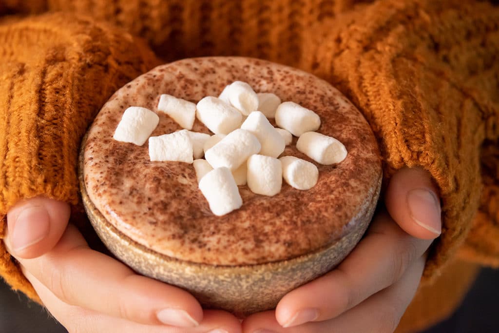
[[[426,280],[467,239],[470,258],[499,261],[498,22],[499,8],[486,2],[380,0],[318,23],[304,46],[302,67],[371,124],[385,179],[422,166],[438,184],[443,230]]]

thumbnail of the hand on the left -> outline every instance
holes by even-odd
[[[11,244],[14,252],[20,252],[47,237],[50,216],[44,207],[24,208],[15,220]]]

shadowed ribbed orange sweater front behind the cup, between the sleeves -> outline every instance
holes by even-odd
[[[11,12],[89,15],[141,36],[165,61],[243,55],[298,64],[302,32],[359,0],[8,0]],[[360,1],[363,2],[363,1]]]

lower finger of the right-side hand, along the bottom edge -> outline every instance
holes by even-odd
[[[358,333],[394,332],[421,280],[425,261],[420,258],[393,286],[373,296],[338,318],[282,328],[272,311],[250,316],[243,322],[245,333]]]

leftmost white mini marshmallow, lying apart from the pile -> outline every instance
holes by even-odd
[[[113,139],[142,146],[158,126],[159,117],[153,111],[140,106],[130,106],[123,112]]]

